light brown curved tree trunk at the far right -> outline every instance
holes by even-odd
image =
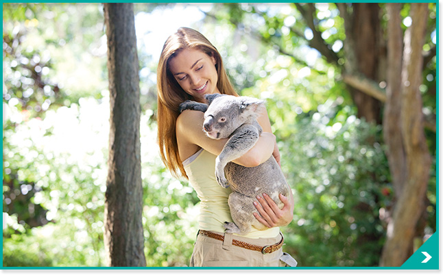
[[[398,197],[381,255],[381,266],[400,266],[409,257],[416,224],[424,209],[431,157],[423,131],[422,47],[427,23],[427,3],[411,3],[412,25],[405,33],[401,73],[401,130],[406,155],[403,191]],[[390,85],[390,84],[389,84]]]

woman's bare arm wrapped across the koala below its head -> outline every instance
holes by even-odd
[[[270,122],[267,118],[267,114],[265,114],[267,123],[269,123],[270,131]],[[200,148],[204,148],[209,153],[213,155],[219,155],[221,150],[223,150],[224,145],[228,142],[228,139],[214,140],[209,138],[206,133],[204,133],[203,129],[204,122],[204,114],[200,111],[184,111],[177,118],[176,122],[176,135],[178,142],[178,149],[180,158],[182,160],[187,159],[191,155],[183,153],[186,148],[192,148],[193,146],[198,146]],[[260,118],[259,118],[260,122]],[[261,124],[263,127],[265,124]],[[265,131],[266,126],[263,127],[263,131]],[[254,167],[259,164],[265,162],[272,155],[272,151],[274,150],[275,144],[275,135],[270,132],[263,132],[259,140],[257,140],[256,144],[252,149],[250,149],[246,154],[235,159],[233,162],[246,167]],[[193,152],[195,153],[196,150]]]

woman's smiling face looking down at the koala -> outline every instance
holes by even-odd
[[[169,69],[184,92],[195,101],[206,102],[205,94],[220,93],[215,58],[203,51],[183,49],[169,60]]]

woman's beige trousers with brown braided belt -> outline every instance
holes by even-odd
[[[219,241],[210,237],[197,235],[194,250],[191,257],[191,267],[285,267],[296,266],[297,262],[291,255],[283,253],[283,249],[270,254],[262,254],[259,251],[241,248],[232,245],[232,238],[244,241],[256,246],[268,246],[278,244],[281,235],[274,238],[250,239],[241,236],[232,236],[228,233],[218,233],[224,235],[224,241]]]

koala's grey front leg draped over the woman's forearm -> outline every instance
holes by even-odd
[[[254,125],[241,125],[232,133],[220,155],[215,159],[215,177],[221,187],[229,186],[224,174],[226,164],[248,152],[257,140],[259,140],[259,129]]]

